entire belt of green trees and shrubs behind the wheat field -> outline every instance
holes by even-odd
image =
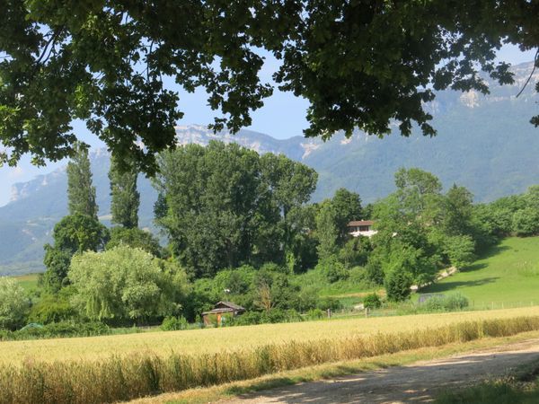
[[[155,223],[166,248],[137,227],[137,172],[124,162],[110,165],[115,226],[99,222],[88,153],[77,148],[67,169],[69,215],[45,246],[46,294],[32,320],[194,320],[225,298],[252,311],[323,309],[335,303],[317,291],[334,282],[384,285],[402,300],[411,285],[468,265],[509,233],[539,233],[539,187],[473,205],[464,187],[444,193],[429,172],[402,169],[396,191],[375,204],[362,206],[347,189],[311,204],[316,172],[282,155],[212,142],[166,152],[159,163]],[[349,221],[368,218],[374,237],[349,235]],[[321,277],[303,285],[310,270]]]

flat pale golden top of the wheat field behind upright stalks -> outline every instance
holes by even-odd
[[[155,331],[88,338],[4,341],[0,342],[0,364],[21,364],[29,360],[91,361],[110,356],[137,355],[143,352],[158,355],[167,355],[172,352],[181,355],[211,354],[223,350],[261,347],[291,340],[368,336],[377,332],[393,333],[437,328],[463,321],[537,315],[539,315],[539,307],[535,306],[482,312],[448,312],[369,319],[358,316],[331,321],[264,324],[223,329]]]

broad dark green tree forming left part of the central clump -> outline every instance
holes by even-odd
[[[277,248],[269,229],[277,206],[262,192],[258,154],[219,142],[187,145],[163,154],[160,169],[155,186],[167,208],[157,223],[195,275],[238,267],[258,252],[255,242],[263,253],[275,253],[268,246]]]

